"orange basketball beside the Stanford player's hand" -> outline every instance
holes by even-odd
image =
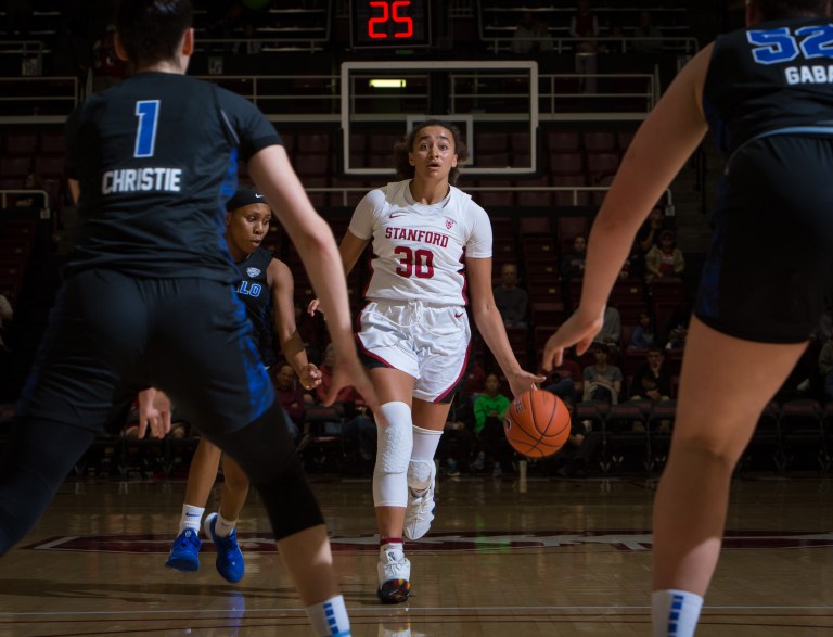
[[[555,394],[529,390],[512,400],[503,419],[503,431],[518,454],[547,458],[567,442],[569,411]]]

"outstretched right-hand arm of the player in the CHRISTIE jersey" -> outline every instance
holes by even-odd
[[[309,202],[282,145],[269,145],[256,152],[248,161],[248,170],[292,237],[326,314],[326,329],[336,352],[330,400],[335,399],[342,387],[351,384],[371,409],[377,411],[376,395],[356,352],[347,282],[343,276],[335,275],[342,270],[342,259],[330,226]]]

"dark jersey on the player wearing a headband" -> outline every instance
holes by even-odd
[[[248,258],[238,266],[236,292],[240,300],[246,306],[246,316],[255,329],[255,343],[257,344],[264,364],[267,367],[274,365],[275,356],[272,348],[273,322],[272,322],[272,293],[269,290],[266,270],[274,256],[265,247],[258,247]]]

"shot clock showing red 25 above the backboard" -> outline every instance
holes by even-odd
[[[350,0],[354,49],[431,46],[431,0]]]

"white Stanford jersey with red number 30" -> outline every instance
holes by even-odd
[[[410,179],[371,190],[356,206],[350,232],[373,240],[373,276],[367,298],[465,305],[463,255],[491,257],[489,217],[471,195],[419,204]]]

